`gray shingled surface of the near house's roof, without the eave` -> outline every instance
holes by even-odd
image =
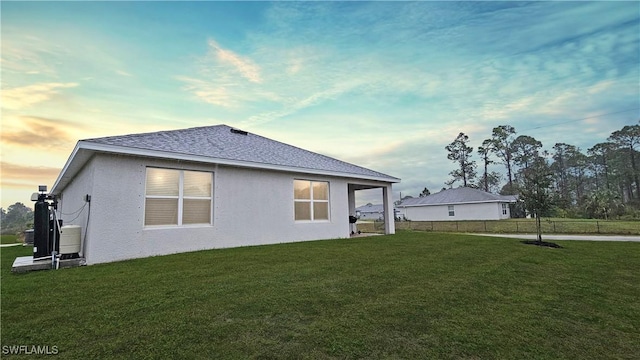
[[[232,132],[232,129],[227,125],[216,125],[86,139],[81,140],[81,143],[117,146],[121,147],[124,153],[126,153],[126,149],[142,149],[169,154],[225,159],[242,163],[277,165],[300,169],[300,171],[317,170],[343,173],[351,176],[379,178],[392,182],[399,181],[397,178],[377,171],[259,135],[251,133],[244,135]]]

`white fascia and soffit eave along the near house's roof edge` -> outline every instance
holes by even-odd
[[[96,144],[96,143],[81,140],[81,141],[78,141],[78,143],[76,144],[76,147],[73,149],[73,152],[69,156],[69,159],[67,160],[66,164],[62,168],[60,175],[58,176],[54,185],[51,188],[51,193],[59,194],[62,190],[64,190],[64,188],[69,184],[69,182],[73,179],[73,177],[82,169],[82,167],[84,167],[84,165],[91,158],[91,156],[93,156],[96,153],[149,157],[149,158],[155,158],[155,159],[191,161],[191,162],[198,162],[198,163],[205,163],[205,164],[228,165],[228,166],[272,170],[272,171],[286,171],[286,172],[311,174],[311,175],[335,176],[335,177],[342,177],[342,178],[349,178],[349,179],[379,181],[379,182],[385,182],[385,183],[400,182],[400,179],[392,176],[360,175],[360,174],[353,174],[353,173],[346,173],[346,172],[339,172],[339,171],[328,171],[328,170],[318,170],[318,169],[312,169],[312,168],[274,165],[274,164],[258,163],[258,162],[251,162],[251,161],[242,161],[242,160],[215,158],[215,157],[200,156],[200,155],[173,153],[173,152],[167,152],[167,151],[123,147],[123,146],[117,146],[117,145]]]

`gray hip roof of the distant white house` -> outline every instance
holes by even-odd
[[[456,189],[446,189],[438,193],[425,197],[405,199],[397,207],[409,206],[435,206],[467,203],[487,203],[487,202],[516,202],[515,195],[496,195],[486,191],[459,187]]]

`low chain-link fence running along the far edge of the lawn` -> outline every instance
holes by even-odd
[[[640,235],[638,221],[557,221],[542,220],[542,232],[547,234],[617,234]],[[384,232],[384,223],[357,223],[363,232]],[[398,230],[470,233],[535,233],[536,223],[518,220],[479,221],[396,221]]]

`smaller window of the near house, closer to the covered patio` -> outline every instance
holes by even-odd
[[[329,183],[294,180],[293,206],[296,221],[329,220]]]

